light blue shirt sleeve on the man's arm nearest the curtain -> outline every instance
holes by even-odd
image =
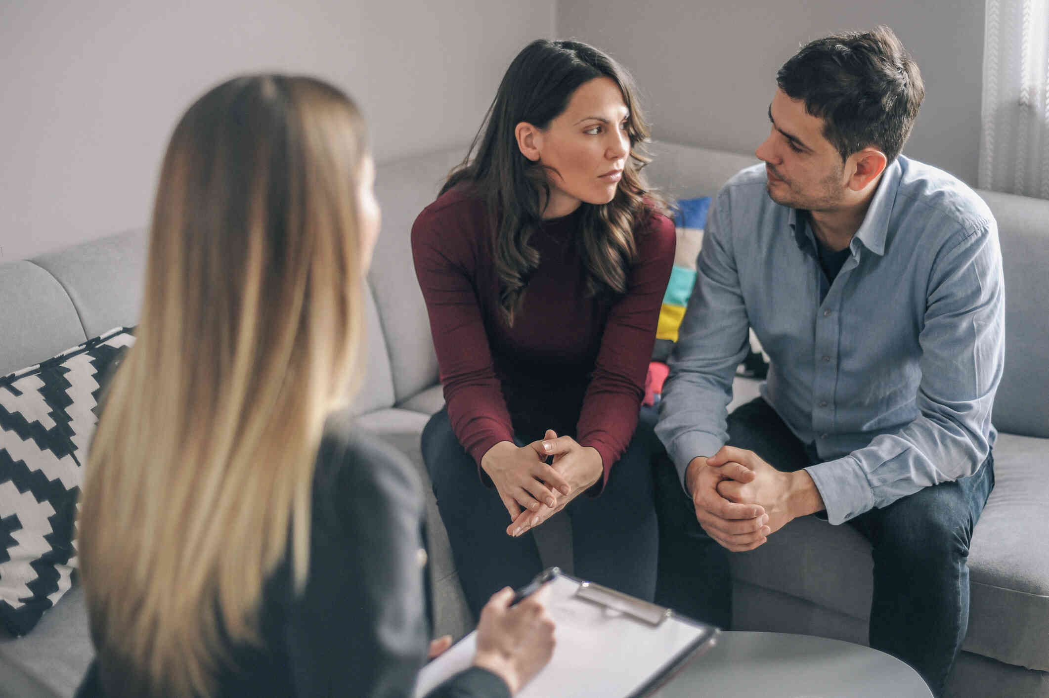
[[[807,468],[830,523],[977,471],[992,445],[991,405],[1005,358],[1004,305],[994,221],[960,230],[929,276],[919,335],[919,417],[866,447]]]

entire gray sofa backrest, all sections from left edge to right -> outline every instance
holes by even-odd
[[[713,195],[757,162],[655,143],[649,181],[676,197]],[[465,148],[386,163],[376,190],[383,232],[368,276],[368,353],[355,411],[389,407],[437,383],[410,232]],[[979,191],[998,219],[1005,266],[1006,364],[994,402],[1003,431],[1049,437],[1049,202]],[[145,235],[132,231],[0,265],[0,375],[47,359],[109,327],[138,321]]]

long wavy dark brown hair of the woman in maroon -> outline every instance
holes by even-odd
[[[520,152],[514,129],[520,122],[548,128],[576,89],[596,78],[611,78],[623,93],[629,110],[630,153],[615,197],[607,204],[581,205],[577,245],[588,274],[588,295],[626,292],[629,268],[637,258],[636,231],[647,228],[654,212],[666,212],[664,200],[641,174],[650,161],[642,149],[649,130],[629,73],[584,43],[545,39],[530,43],[510,64],[466,158],[441,189],[443,194],[465,183],[485,200],[492,219],[499,305],[508,324],[513,324],[529,278],[539,266],[539,253],[529,240],[542,224],[542,203],[550,197],[547,166]]]

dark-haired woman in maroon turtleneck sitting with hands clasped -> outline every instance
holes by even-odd
[[[577,575],[655,593],[637,425],[675,230],[641,177],[647,136],[615,61],[535,41],[412,229],[446,401],[423,458],[475,613],[539,569],[530,530],[565,507]]]

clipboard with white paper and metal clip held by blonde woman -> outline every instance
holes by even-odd
[[[517,698],[642,698],[716,641],[713,626],[656,604],[564,574],[549,577],[548,613],[554,619],[554,656]],[[532,587],[532,585],[529,585]],[[415,682],[422,698],[468,669],[476,631],[423,668]]]

